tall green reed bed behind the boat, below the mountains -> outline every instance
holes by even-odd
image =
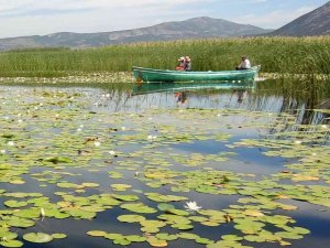
[[[330,74],[330,36],[249,37],[136,43],[87,50],[41,48],[0,53],[0,76],[57,77],[130,72],[132,65],[174,69],[190,55],[195,71],[232,69],[246,54],[264,73]]]

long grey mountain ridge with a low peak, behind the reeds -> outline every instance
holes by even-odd
[[[222,19],[194,18],[186,21],[114,32],[70,33],[0,39],[0,50],[26,47],[90,47],[132,42],[173,41],[204,37],[232,37],[271,32],[254,25],[238,24]]]

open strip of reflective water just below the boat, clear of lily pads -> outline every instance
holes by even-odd
[[[10,85],[11,88],[26,86]],[[326,82],[314,84],[312,87],[283,80],[248,84],[36,84],[29,87],[34,90],[52,88],[54,91],[68,88],[73,93],[85,94],[89,99],[89,106],[86,107],[92,111],[138,112],[152,107],[239,108],[271,111],[278,117],[284,112],[289,114],[300,125],[328,125],[330,120],[329,111],[314,111],[330,107],[330,87]]]

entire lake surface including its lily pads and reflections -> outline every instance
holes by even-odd
[[[329,91],[0,85],[0,245],[326,248]]]

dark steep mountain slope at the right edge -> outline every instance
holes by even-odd
[[[267,35],[314,36],[327,34],[330,34],[330,1]]]

